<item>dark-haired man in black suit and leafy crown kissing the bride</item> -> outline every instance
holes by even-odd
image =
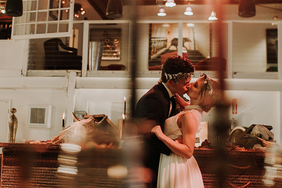
[[[137,128],[140,135],[144,135],[144,165],[152,170],[152,182],[147,187],[157,187],[160,153],[169,155],[171,150],[160,141],[151,129],[160,125],[162,130],[164,121],[173,116],[175,98],[173,95],[185,94],[189,88],[194,65],[182,56],[167,58],[162,68],[161,80],[140,98],[135,108]]]

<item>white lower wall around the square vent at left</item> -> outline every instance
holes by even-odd
[[[53,136],[57,136],[62,130],[62,116],[66,111],[66,93],[66,89],[1,88],[1,98],[11,99],[11,108],[17,110],[15,115],[18,119],[18,128],[15,142],[21,143],[21,139],[51,140]],[[28,127],[28,105],[52,105],[51,128]]]

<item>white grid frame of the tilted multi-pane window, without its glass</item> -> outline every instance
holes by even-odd
[[[23,16],[25,21],[22,23],[17,23],[16,24],[16,19],[19,19],[20,17],[13,17],[13,22],[12,22],[12,34],[11,34],[11,39],[31,39],[31,38],[58,38],[58,37],[68,37],[71,36],[72,33],[72,29],[73,29],[73,9],[74,9],[74,0],[70,0],[70,7],[65,7],[65,8],[61,8],[61,1],[62,0],[58,0],[59,1],[59,8],[56,9],[49,9],[49,4],[50,4],[50,0],[47,0],[47,9],[43,9],[43,10],[38,10],[38,3],[40,0],[23,0],[23,3],[27,4],[28,1],[36,1],[37,2],[37,6],[36,6],[36,10],[34,11],[30,11],[27,10],[27,6],[24,6],[24,11],[23,11]],[[69,18],[66,20],[56,20],[56,21],[48,21],[48,13],[49,11],[58,11],[58,18],[61,14],[61,10],[66,10],[69,9]],[[37,15],[38,12],[42,12],[42,11],[47,11],[47,18],[46,21],[37,21]],[[31,13],[34,12],[36,13],[36,20],[34,22],[26,22],[26,13]],[[46,23],[46,33],[36,33],[36,25],[37,24],[44,24]],[[57,23],[57,32],[56,33],[47,33],[47,29],[48,29],[48,24],[54,24]],[[68,24],[68,31],[67,32],[59,32],[59,24],[62,23],[66,23]],[[24,26],[24,28],[26,28],[26,25],[31,25],[31,24],[35,24],[35,33],[34,34],[22,34],[22,35],[15,35],[14,31],[16,29],[16,27],[19,26]],[[25,33],[25,31],[24,31]]]

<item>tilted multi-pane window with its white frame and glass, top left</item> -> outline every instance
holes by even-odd
[[[73,4],[73,0],[23,0],[24,14],[13,18],[12,38],[70,36]]]

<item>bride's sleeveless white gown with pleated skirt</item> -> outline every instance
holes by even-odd
[[[187,109],[177,114],[191,111],[197,119],[197,133],[201,130],[202,112],[195,109]],[[171,139],[182,135],[177,126],[178,116],[168,118],[164,123],[164,134]],[[196,139],[196,138],[195,138]],[[190,159],[181,157],[174,152],[169,156],[161,154],[158,172],[158,188],[204,188],[202,174],[197,161],[192,156]]]

